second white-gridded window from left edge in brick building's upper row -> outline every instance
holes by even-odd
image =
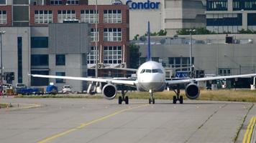
[[[35,24],[52,23],[52,11],[35,11]]]

